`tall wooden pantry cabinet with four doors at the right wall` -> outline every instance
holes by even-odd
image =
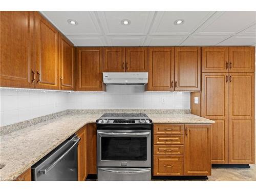
[[[212,164],[254,164],[254,47],[202,48],[202,116]]]

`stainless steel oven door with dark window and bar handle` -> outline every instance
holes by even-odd
[[[151,130],[97,130],[98,167],[150,167]]]

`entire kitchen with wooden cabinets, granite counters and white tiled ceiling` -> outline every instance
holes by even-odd
[[[0,21],[1,181],[256,180],[255,11]]]

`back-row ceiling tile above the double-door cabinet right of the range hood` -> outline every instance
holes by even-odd
[[[178,46],[187,36],[148,36],[144,46]]]

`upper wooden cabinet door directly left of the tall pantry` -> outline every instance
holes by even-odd
[[[201,48],[175,47],[175,90],[200,91]]]

